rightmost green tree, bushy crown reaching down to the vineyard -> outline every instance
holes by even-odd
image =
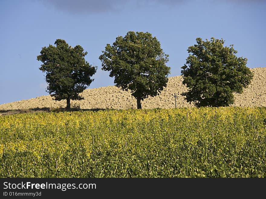
[[[233,92],[242,93],[250,84],[253,74],[246,67],[247,58],[236,57],[233,45],[224,47],[224,40],[211,38],[188,47],[191,53],[181,67],[183,84],[188,91],[182,93],[187,102],[200,106],[229,106],[234,103]]]

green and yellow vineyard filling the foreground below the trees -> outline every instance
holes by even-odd
[[[0,177],[266,177],[266,108],[0,116]]]

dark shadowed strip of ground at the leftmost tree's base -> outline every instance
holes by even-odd
[[[15,109],[15,110],[0,110],[1,115],[14,115],[14,114],[22,114],[22,113],[42,113],[42,112],[65,112],[65,111],[99,111],[99,110],[106,110],[101,108],[94,108],[94,109],[81,109],[81,108],[70,108],[67,110],[66,108],[29,108],[29,109]]]

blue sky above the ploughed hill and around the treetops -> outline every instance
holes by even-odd
[[[128,31],[160,41],[168,77],[180,75],[197,37],[223,38],[249,68],[266,67],[265,9],[262,0],[0,0],[0,104],[49,95],[37,55],[56,39],[88,52],[86,61],[98,67],[89,88],[114,85],[99,55]]]

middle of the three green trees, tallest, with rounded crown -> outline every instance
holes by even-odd
[[[125,37],[118,36],[111,46],[107,44],[99,59],[102,70],[115,77],[115,86],[130,90],[141,109],[141,100],[156,96],[167,85],[170,67],[160,42],[151,33],[129,31]]]

